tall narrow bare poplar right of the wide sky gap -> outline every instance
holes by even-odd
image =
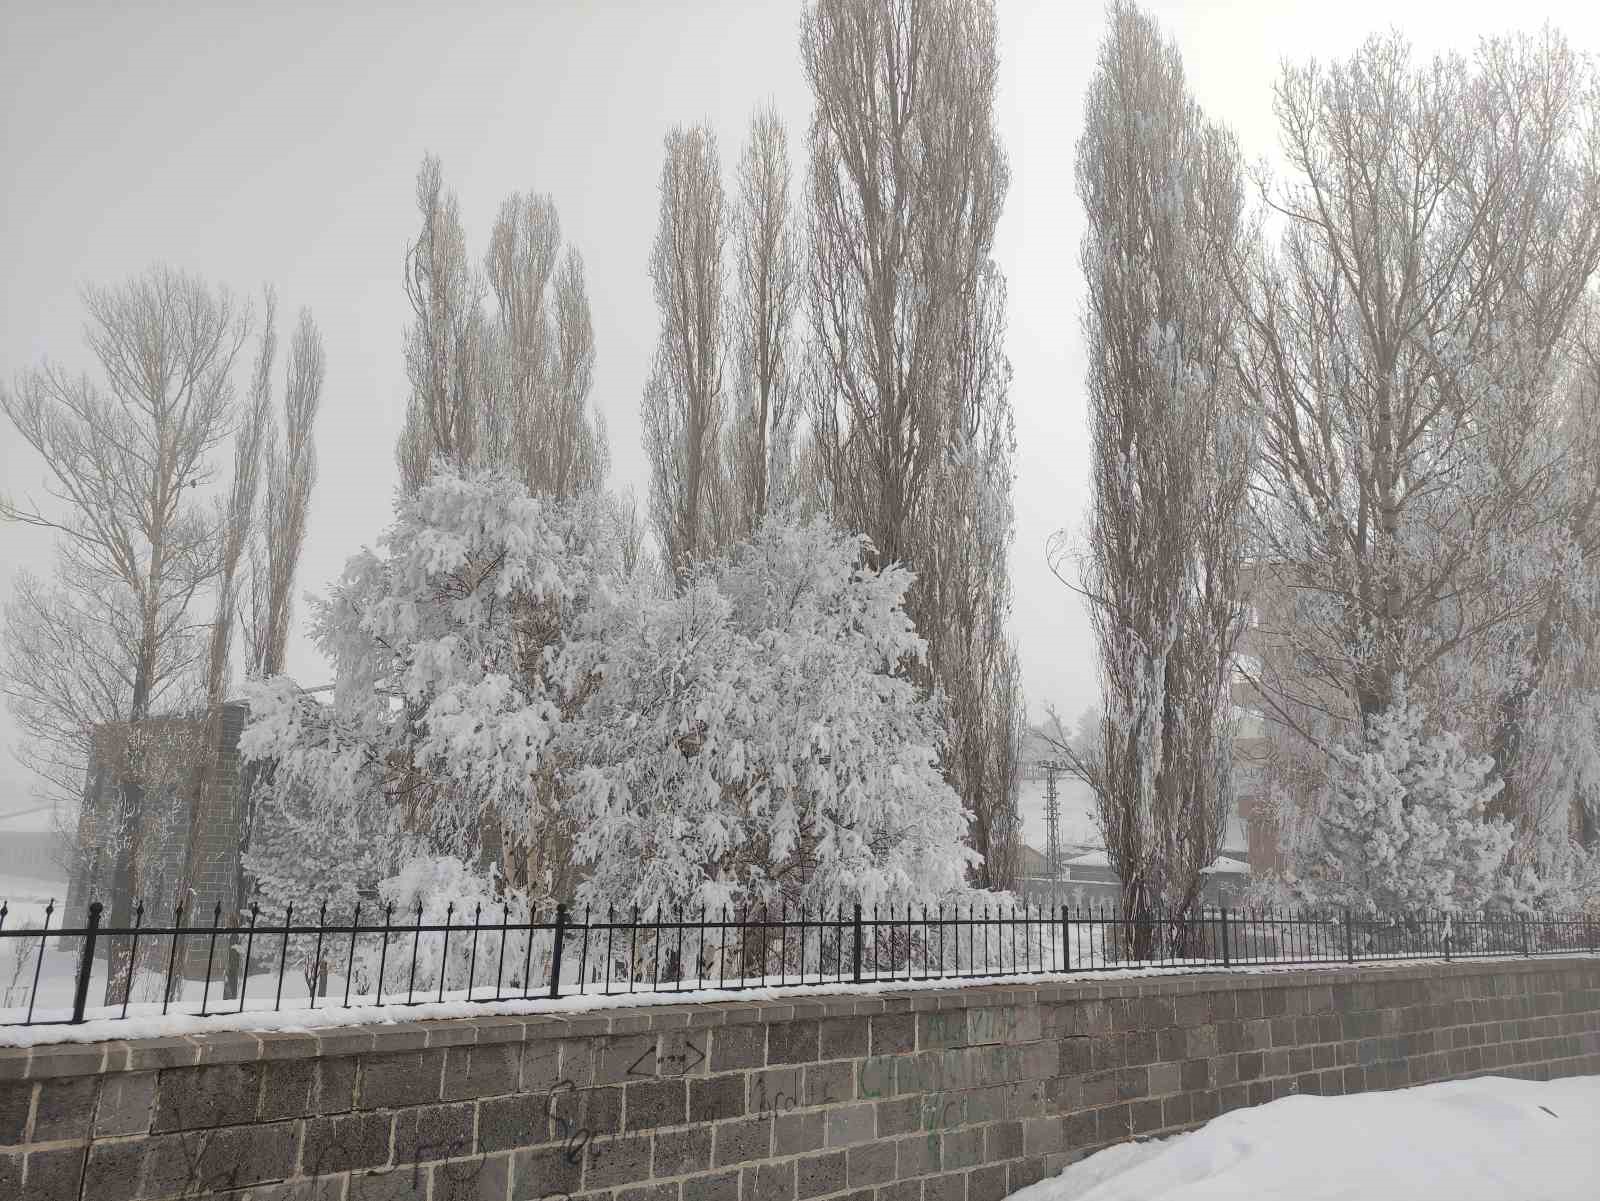
[[[1149,16],[1109,16],[1077,150],[1093,472],[1080,590],[1104,704],[1104,745],[1080,774],[1138,956],[1155,915],[1197,904],[1232,803],[1251,427],[1218,286],[1243,214],[1234,138],[1205,120]]]

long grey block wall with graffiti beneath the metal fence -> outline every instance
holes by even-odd
[[[26,1201],[992,1201],[1290,1092],[1600,1073],[1600,960],[0,1049]]]

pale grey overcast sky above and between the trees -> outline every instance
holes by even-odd
[[[1283,58],[1342,56],[1389,26],[1432,53],[1550,19],[1600,53],[1592,3],[1149,8],[1176,37],[1202,106],[1251,158],[1277,146],[1270,88]],[[1077,531],[1086,501],[1072,155],[1104,14],[1066,0],[998,0],[998,11],[997,118],[1013,173],[997,246],[1018,421],[1013,628],[1030,713],[1053,702],[1072,716],[1094,700],[1093,646],[1078,601],[1045,565],[1045,542]],[[661,141],[672,123],[710,120],[726,178],[752,107],[771,98],[789,122],[798,182],[811,110],[798,19],[797,0],[330,11],[293,0],[0,0],[0,379],[43,355],[88,369],[80,285],[118,283],[152,262],[251,297],[275,285],[280,344],[310,307],[328,377],[299,589],[320,592],[389,521],[406,397],[400,280],[418,222],[414,174],[432,150],[461,198],[474,257],[507,194],[554,195],[587,264],[611,486],[643,499],[638,397],[656,336],[645,272]],[[27,494],[42,472],[18,443],[0,429],[0,488]],[[0,526],[0,593],[18,568],[48,573],[50,547],[42,531]],[[307,684],[328,676],[299,632],[288,667]],[[14,737],[0,712],[0,812],[29,804]],[[18,825],[0,825],[0,836],[8,828]]]

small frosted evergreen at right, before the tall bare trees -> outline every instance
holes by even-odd
[[[1362,737],[1330,748],[1314,894],[1392,915],[1477,910],[1494,896],[1514,836],[1486,812],[1501,790],[1494,761],[1469,755],[1456,734],[1427,734],[1424,720],[1395,680],[1394,704]]]

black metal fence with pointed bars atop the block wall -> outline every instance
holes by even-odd
[[[1600,950],[1594,915],[1230,910],[1123,916],[1094,907],[570,910],[357,905],[314,923],[251,908],[224,923],[8,924],[0,904],[0,1025],[157,1014],[483,1003],[872,982],[978,980],[1144,968],[1245,968]],[[398,918],[398,920],[397,920]],[[54,947],[51,947],[54,942]],[[187,964],[202,960],[203,974]],[[91,1004],[91,1001],[94,1001]]]

